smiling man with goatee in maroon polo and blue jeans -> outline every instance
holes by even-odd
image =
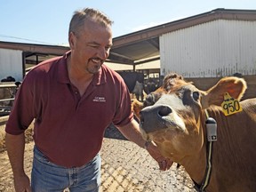
[[[161,170],[170,168],[172,162],[142,139],[123,79],[103,64],[112,45],[111,24],[97,10],[75,12],[71,51],[42,62],[20,85],[5,129],[16,191],[99,191],[99,151],[111,122],[141,148],[146,143]],[[23,169],[24,131],[34,119],[30,188]]]

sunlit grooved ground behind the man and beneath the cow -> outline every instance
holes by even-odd
[[[3,127],[2,127],[3,131]],[[1,132],[1,126],[0,126]],[[33,160],[33,140],[25,148],[24,167],[30,177]],[[193,183],[183,167],[161,172],[148,152],[131,141],[124,140],[116,128],[107,129],[100,151],[101,188],[100,192],[195,192]],[[0,152],[0,192],[12,192],[13,176],[7,152]]]

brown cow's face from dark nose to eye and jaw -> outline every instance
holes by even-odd
[[[156,142],[164,156],[180,161],[202,147],[200,112],[200,92],[194,86],[184,86],[141,110],[141,132]]]

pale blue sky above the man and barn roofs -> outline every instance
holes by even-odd
[[[93,7],[114,20],[123,36],[217,8],[256,10],[256,0],[0,0],[0,41],[68,44],[68,24],[77,9]]]

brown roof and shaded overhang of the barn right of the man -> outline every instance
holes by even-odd
[[[256,10],[216,9],[186,19],[175,20],[153,28],[146,28],[131,34],[118,36],[113,39],[114,45],[111,52],[130,59],[130,62],[126,64],[130,64],[132,61],[133,65],[139,65],[152,60],[152,57],[160,60],[159,36],[213,20],[255,21]]]

